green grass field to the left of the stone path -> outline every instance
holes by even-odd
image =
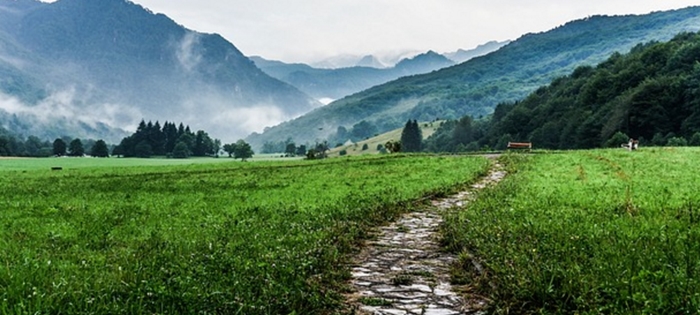
[[[0,177],[0,314],[332,313],[369,227],[489,164],[46,161],[0,161],[46,163]]]

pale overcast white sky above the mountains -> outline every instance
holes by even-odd
[[[644,14],[697,0],[132,0],[245,55],[313,63],[350,54],[440,53],[514,40],[591,15]]]

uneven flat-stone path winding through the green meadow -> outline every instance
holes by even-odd
[[[474,190],[498,183],[506,173],[499,164],[471,189],[433,200],[425,207],[381,227],[368,242],[352,270],[353,309],[373,315],[471,314],[486,301],[464,301],[450,285],[449,269],[456,258],[440,250],[441,212],[467,203]]]

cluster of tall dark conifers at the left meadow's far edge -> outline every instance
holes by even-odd
[[[203,130],[190,131],[183,123],[144,122],[139,123],[136,132],[122,139],[112,151],[112,155],[148,158],[170,156],[187,158],[190,156],[216,156],[221,149],[221,141],[212,139]]]

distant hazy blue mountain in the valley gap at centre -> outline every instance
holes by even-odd
[[[367,62],[379,62],[367,56]],[[340,69],[318,69],[305,64],[286,64],[280,61],[251,57],[255,64],[267,74],[289,83],[316,99],[339,99],[370,87],[395,80],[402,76],[427,73],[454,65],[454,62],[429,51],[410,59],[403,59],[394,67],[350,67]]]

